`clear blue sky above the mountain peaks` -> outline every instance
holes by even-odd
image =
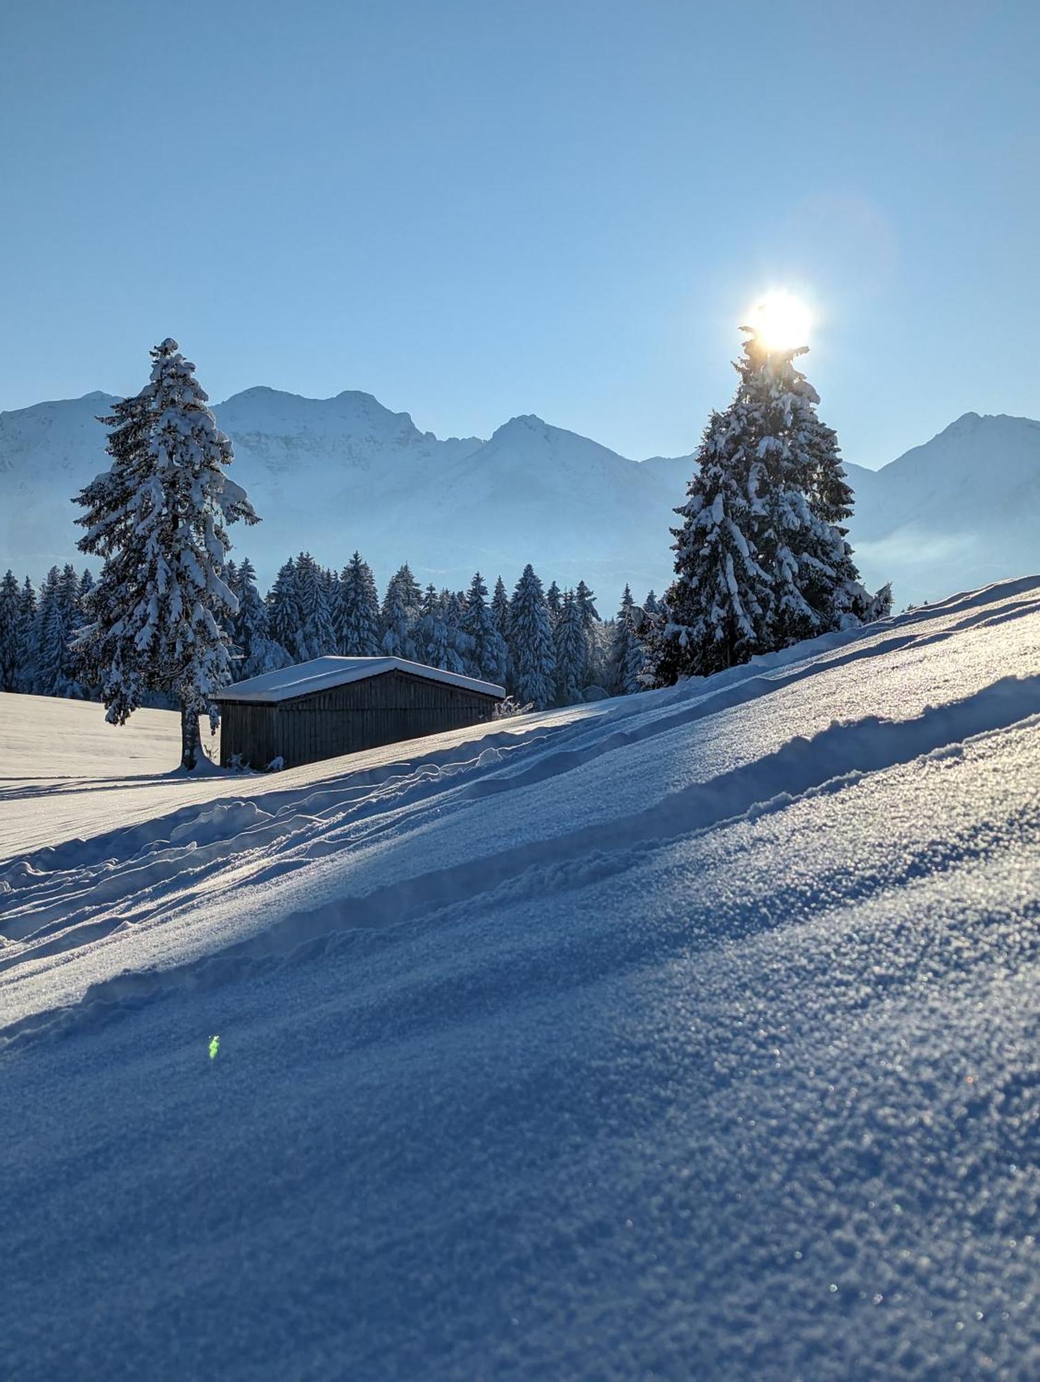
[[[0,408],[373,392],[690,451],[804,293],[849,460],[1040,416],[1040,6],[0,6]]]

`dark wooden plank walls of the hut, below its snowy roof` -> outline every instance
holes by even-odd
[[[426,681],[404,672],[315,691],[271,705],[236,705],[223,710],[221,763],[234,753],[252,767],[281,756],[286,767],[380,744],[465,728],[491,719],[492,697]]]

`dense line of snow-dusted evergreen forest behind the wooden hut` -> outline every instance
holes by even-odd
[[[501,576],[488,594],[479,572],[467,590],[423,590],[405,564],[380,598],[358,553],[336,572],[303,551],[266,594],[248,557],[228,558],[224,578],[236,603],[223,621],[234,681],[328,654],[398,656],[505,685],[535,709],[640,690],[638,629],[658,609],[653,591],[638,605],[625,587],[617,616],[603,621],[584,580],[544,587],[530,565],[512,594]],[[94,585],[72,565],[53,567],[39,590],[11,571],[0,578],[0,691],[101,699],[76,648]],[[144,703],[176,701],[156,691]]]

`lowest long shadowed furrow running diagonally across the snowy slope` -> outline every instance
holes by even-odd
[[[105,980],[91,985],[76,1003],[33,1013],[0,1028],[0,1046],[58,1036],[180,987],[238,980],[293,955],[306,960],[315,944],[321,949],[336,934],[431,922],[492,897],[534,900],[588,883],[591,868],[596,876],[617,875],[676,839],[781,811],[804,796],[855,788],[867,774],[949,753],[965,739],[1018,724],[1040,727],[1040,676],[1004,677],[963,701],[929,708],[910,720],[866,716],[851,723],[834,721],[812,738],[795,737],[772,755],[683,788],[633,815],[585,826],[537,847],[527,843],[430,871],[358,897],[339,897],[290,914],[267,931],[221,952],[165,970]],[[772,792],[777,781],[786,786]]]

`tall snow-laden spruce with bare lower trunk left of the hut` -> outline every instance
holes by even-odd
[[[149,690],[177,697],[181,766],[192,771],[199,716],[209,712],[216,723],[213,695],[231,679],[221,629],[235,601],[223,578],[227,524],[257,515],[227,475],[231,442],[206,406],[195,366],[170,339],[155,347],[152,362],[147,445],[130,445],[129,463],[113,455],[112,484],[97,498],[80,495],[87,507],[80,547],[106,558],[82,643],[90,665],[101,668],[111,723],[124,724]],[[109,502],[119,513],[100,510]]]

